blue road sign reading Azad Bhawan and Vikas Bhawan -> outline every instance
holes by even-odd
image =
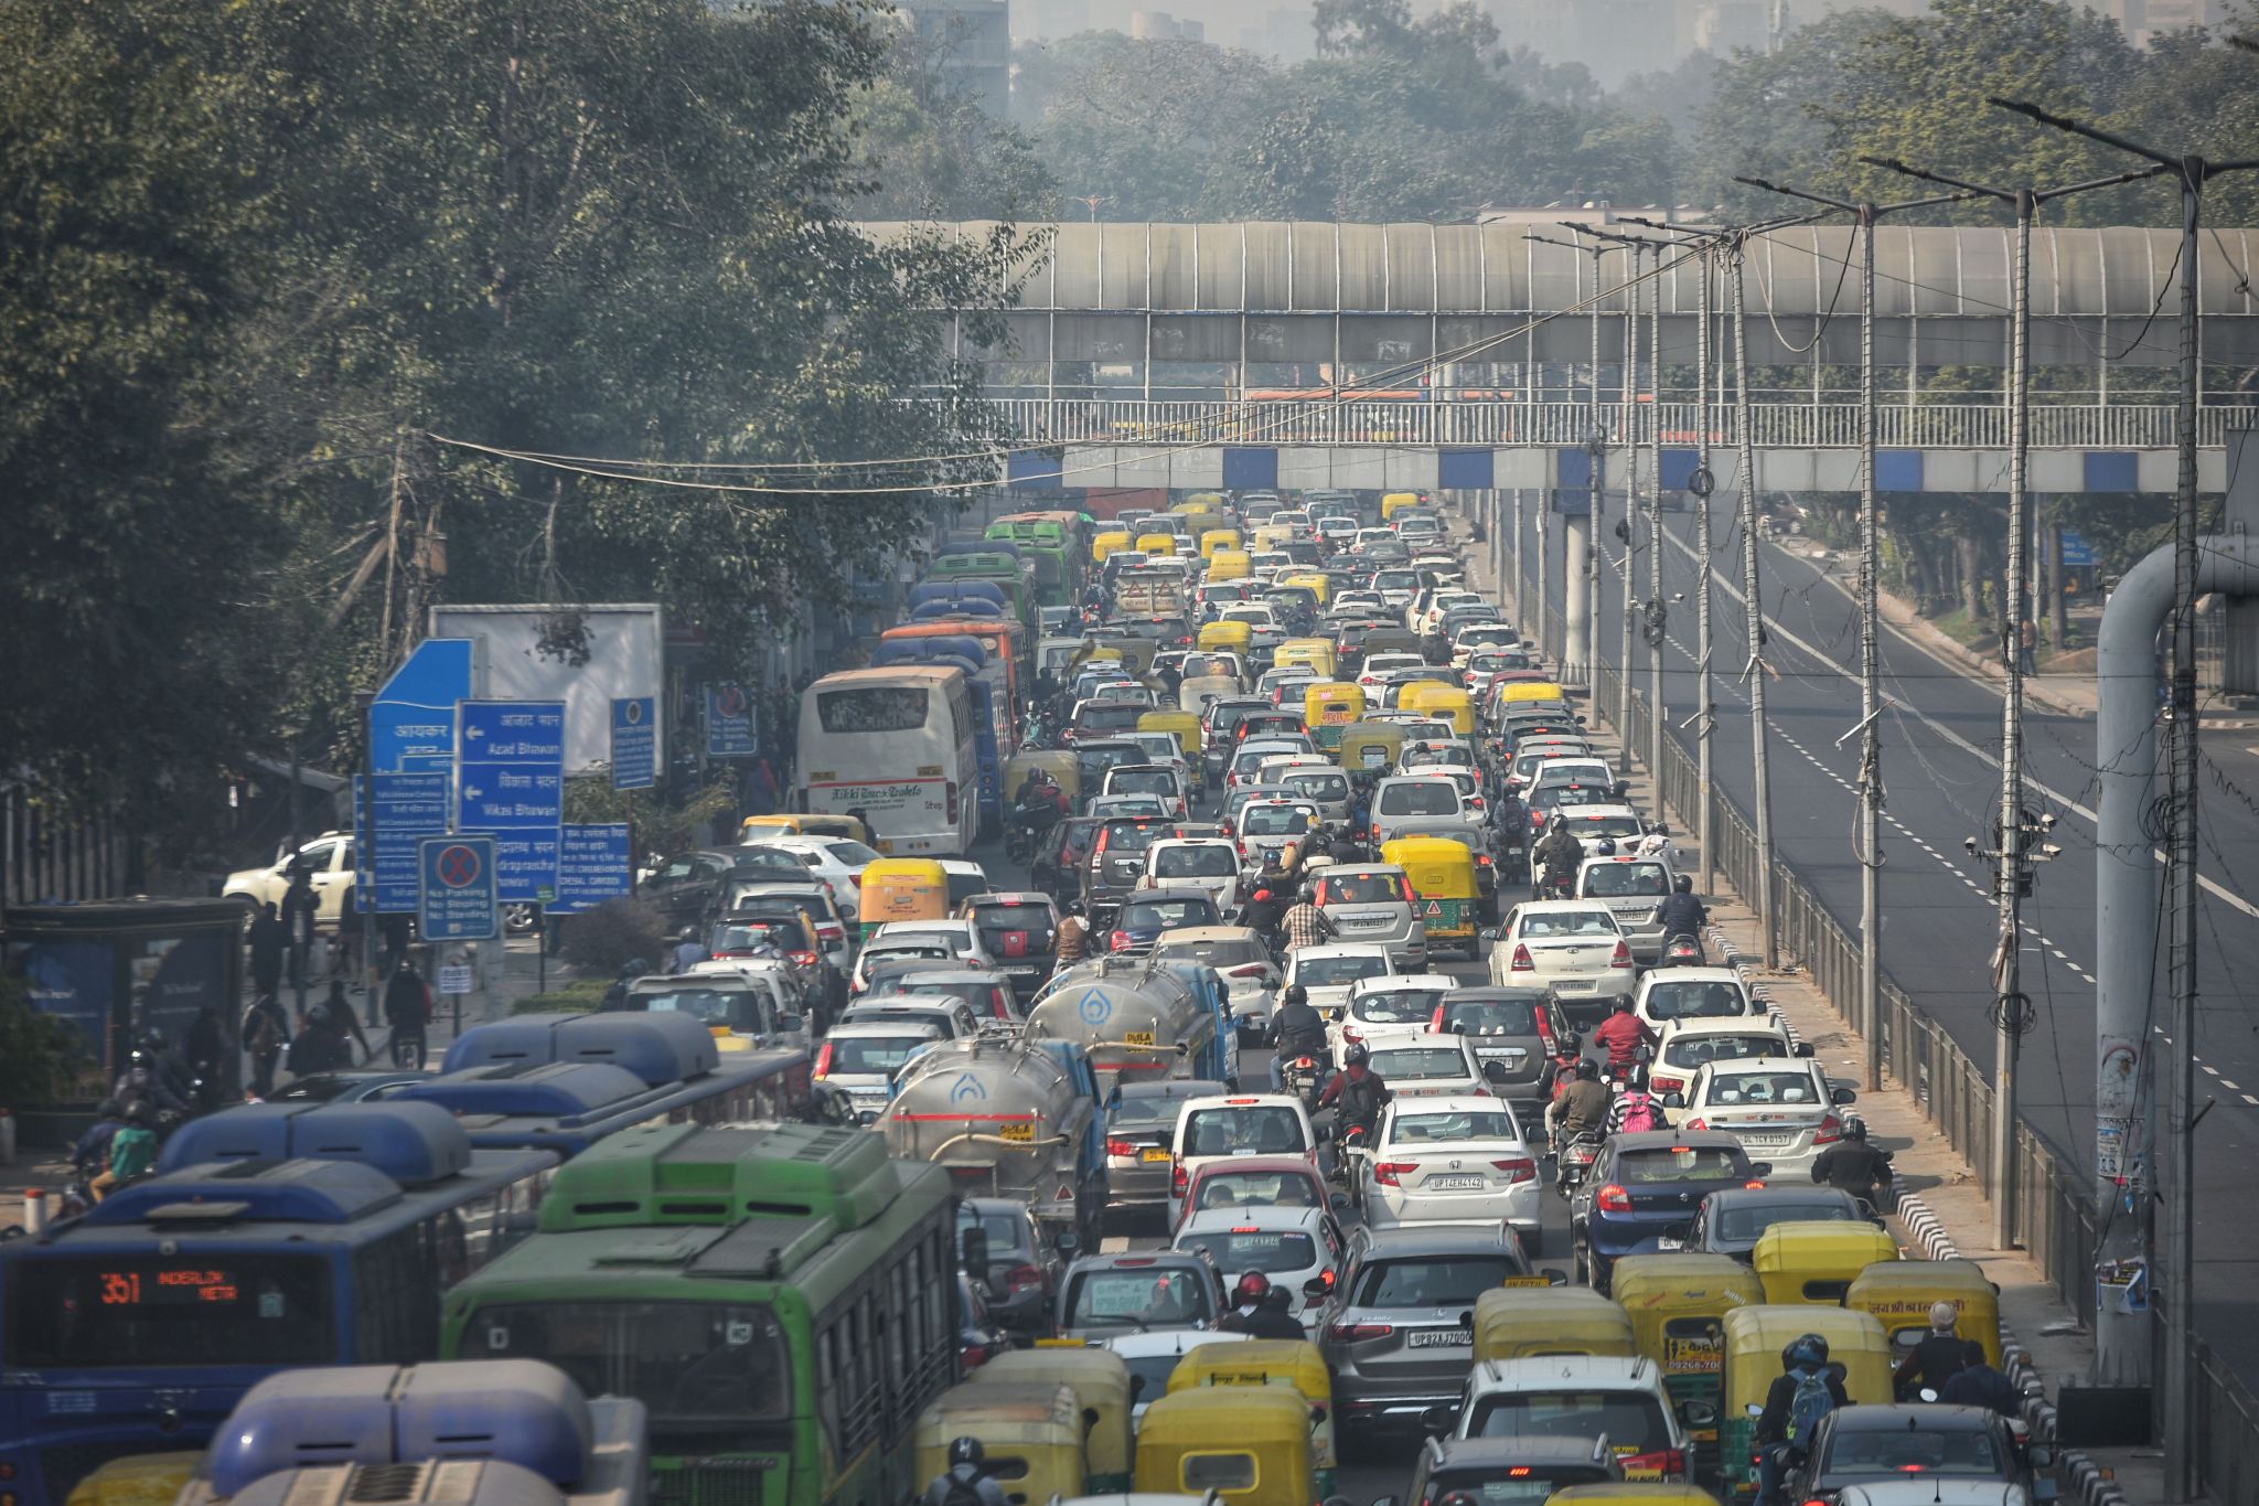
[[[454,756],[454,829],[495,835],[504,903],[547,903],[565,826],[565,702],[465,700]]]

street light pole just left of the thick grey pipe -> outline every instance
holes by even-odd
[[[2026,601],[2031,544],[2031,221],[2040,205],[2051,199],[2083,194],[2094,187],[2117,187],[2135,178],[2153,176],[2123,172],[2110,178],[2069,183],[2065,187],[1988,187],[1963,183],[1940,172],[1907,167],[1898,158],[1861,156],[1861,163],[1943,183],[1970,196],[1999,199],[2015,210],[2015,260],[2011,264],[2011,314],[2008,314],[2008,571],[1999,594],[1999,657],[2004,691],[1999,700],[1999,829],[1992,858],[1992,903],[1999,910],[1999,942],[1992,951],[1992,1145],[1990,1145],[1990,1192],[1992,1192],[1992,1246],[2015,1246],[2015,1109],[2017,1109],[2017,1054],[2024,1034],[2031,1032],[2033,1009],[2024,993],[2024,896],[2031,892],[2031,867],[2024,858],[2029,847],[2024,813],[2024,621],[2031,619]]]

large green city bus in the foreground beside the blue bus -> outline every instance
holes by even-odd
[[[635,1129],[447,1294],[441,1352],[642,1400],[651,1506],[892,1506],[958,1377],[953,1226],[949,1174],[867,1129]]]

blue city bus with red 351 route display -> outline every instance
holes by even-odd
[[[0,1242],[0,1492],[63,1506],[97,1465],[203,1447],[276,1371],[438,1357],[441,1298],[533,1231],[549,1152],[472,1149],[434,1104],[260,1120],[212,1161],[194,1120],[167,1167]]]

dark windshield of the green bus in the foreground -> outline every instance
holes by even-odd
[[[653,1447],[793,1416],[784,1328],[759,1303],[504,1303],[472,1316],[463,1352],[547,1359],[587,1395],[633,1395]]]

